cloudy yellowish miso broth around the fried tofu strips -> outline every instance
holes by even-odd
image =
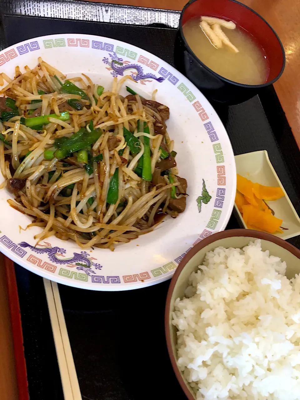
[[[201,18],[193,18],[182,27],[186,42],[208,68],[220,76],[247,85],[260,85],[268,78],[268,62],[262,50],[251,37],[241,29],[222,31],[239,52],[235,53],[223,44],[215,48],[206,37],[199,24]]]

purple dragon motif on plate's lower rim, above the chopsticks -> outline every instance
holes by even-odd
[[[50,261],[55,262],[56,264],[69,264],[70,266],[74,264],[77,270],[85,272],[87,275],[96,274],[92,270],[92,266],[94,266],[97,270],[100,270],[102,266],[98,263],[92,262],[92,260],[96,260],[94,257],[90,257],[90,255],[82,251],[79,253],[73,253],[72,258],[58,258],[65,257],[66,250],[60,247],[52,247],[50,243],[44,242],[45,244],[39,244],[39,247],[31,246],[27,242],[19,243],[20,247],[29,247],[32,251],[38,254],[47,254]]]

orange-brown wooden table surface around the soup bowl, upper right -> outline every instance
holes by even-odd
[[[98,2],[98,0],[90,0]],[[209,1],[209,0],[208,0]],[[182,10],[186,0],[101,0],[103,3]],[[240,0],[263,16],[280,37],[286,53],[286,68],[274,84],[300,148],[300,1]]]

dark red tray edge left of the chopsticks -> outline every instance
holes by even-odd
[[[16,274],[14,270],[14,262],[4,256],[4,267],[6,272],[6,283],[10,310],[10,321],[12,326],[12,337],[14,343],[14,357],[16,364],[16,376],[18,380],[17,384],[19,400],[29,400],[20,304]]]

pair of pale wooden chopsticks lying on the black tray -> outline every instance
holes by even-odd
[[[52,332],[65,400],[82,400],[64,312],[56,282],[44,278]]]

